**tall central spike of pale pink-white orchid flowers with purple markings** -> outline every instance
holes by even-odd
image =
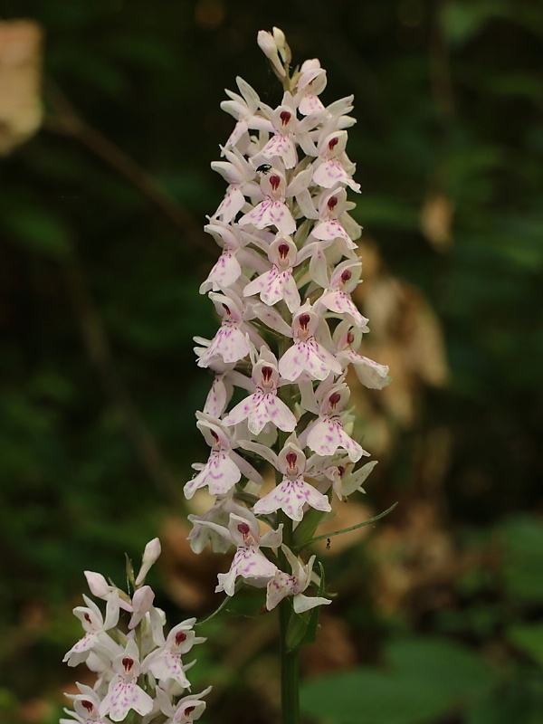
[[[362,268],[361,229],[347,200],[348,189],[359,191],[345,150],[353,98],[325,107],[326,71],[313,59],[290,73],[279,29],[261,31],[258,43],[284,94],[273,109],[237,78],[239,93],[226,90],[221,104],[236,123],[221,148],[224,160],[212,167],[229,186],[205,231],[223,251],[200,292],[222,322],[213,339],[195,338],[198,365],[214,373],[196,413],[210,455],[193,466],[197,474],[184,490],[187,499],[204,487],[216,496],[204,515],[189,516],[193,549],[207,541],[216,551],[236,548],[216,590],[233,595],[241,578],[267,588],[269,610],[292,596],[300,613],[330,602],[303,595],[317,580],[315,557],[305,563],[285,545],[281,515],[295,534],[308,511],[331,510],[332,491],[343,500],[362,490],[376,462],[355,468],[369,453],[349,434],[347,370],[354,366],[374,389],[389,377],[388,367],[357,351],[368,328],[351,300]],[[228,409],[234,387],[245,396]],[[259,459],[277,472],[276,487],[263,496]],[[271,530],[261,535],[256,516]],[[290,570],[280,569],[280,559]]]

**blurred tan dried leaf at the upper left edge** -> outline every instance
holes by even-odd
[[[40,128],[43,32],[30,20],[0,22],[0,155]]]

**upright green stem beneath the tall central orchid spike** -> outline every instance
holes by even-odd
[[[290,548],[292,543],[292,521],[281,513],[284,524],[283,541]],[[288,570],[288,561],[280,549],[282,570]],[[281,655],[281,713],[282,724],[300,724],[300,675],[298,650],[287,649],[287,631],[291,621],[292,605],[289,598],[284,598],[279,605],[279,633]]]

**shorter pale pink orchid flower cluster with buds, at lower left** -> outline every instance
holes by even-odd
[[[145,585],[149,568],[160,554],[158,538],[144,552],[133,595],[110,585],[100,573],[85,571],[90,593],[106,601],[105,617],[89,596],[86,605],[73,613],[81,620],[84,636],[64,656],[69,666],[85,662],[97,675],[93,687],[78,682],[79,693],[68,694],[73,710],[65,710],[70,719],[60,724],[110,724],[123,721],[137,712],[142,724],[189,724],[200,719],[205,696],[190,691],[186,670],[193,662],[183,657],[204,638],[193,630],[195,618],[186,619],[164,635],[166,617],[153,605],[155,594]],[[126,626],[119,626],[121,611]],[[132,720],[132,719],[130,719]]]

